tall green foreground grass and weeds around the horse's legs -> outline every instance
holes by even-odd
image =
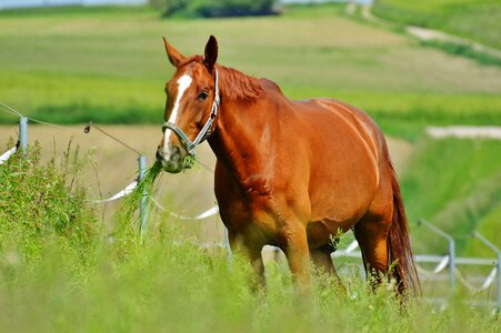
[[[68,171],[82,162],[44,164],[38,154],[32,150],[29,162],[14,157],[0,165],[2,194],[43,193],[42,201],[0,195],[0,206],[9,206],[0,211],[1,331],[492,332],[499,324],[489,310],[462,305],[463,296],[442,312],[414,300],[401,307],[389,285],[372,293],[355,273],[344,280],[349,296],[320,276],[309,300],[294,291],[287,270],[271,264],[264,294],[253,290],[251,269],[239,255],[228,265],[222,249],[181,236],[166,216],[150,220],[142,241],[130,228],[133,221],[118,221],[129,222],[126,232],[106,233],[74,185],[79,173]],[[74,195],[79,201],[60,200]],[[53,228],[73,204],[71,224]],[[46,221],[27,205],[56,214]],[[26,243],[37,245],[37,255]]]

